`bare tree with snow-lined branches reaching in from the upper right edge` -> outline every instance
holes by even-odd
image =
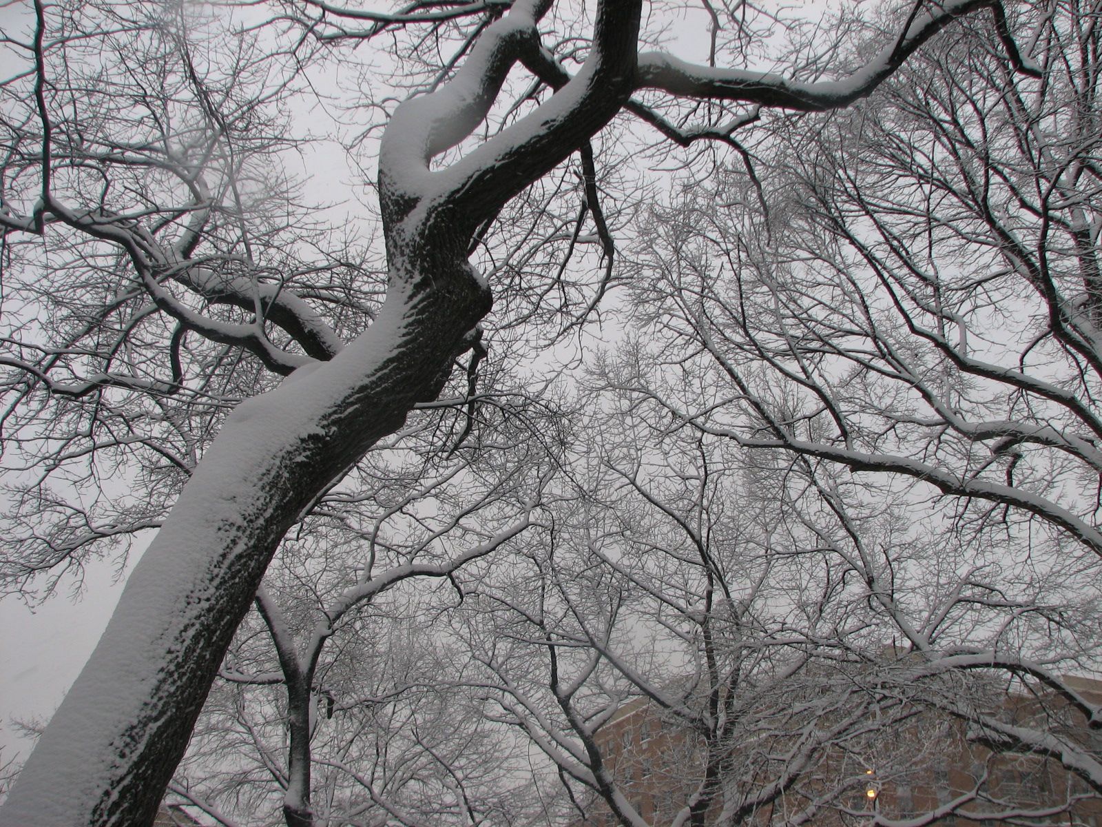
[[[633,282],[645,333],[608,382],[671,431],[788,454],[923,669],[987,670],[1062,710],[1051,728],[981,712],[971,735],[1096,792],[1098,705],[1061,677],[1098,651],[1096,9],[1023,13],[1042,83],[969,20],[868,101],[763,148],[756,192],[716,175],[657,211],[652,278]],[[927,541],[965,551],[955,584],[842,519],[900,491]]]

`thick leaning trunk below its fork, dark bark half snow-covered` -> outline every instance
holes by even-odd
[[[435,398],[489,292],[455,234],[388,236],[391,288],[375,324],[229,417],[20,774],[3,827],[150,824],[284,533]]]

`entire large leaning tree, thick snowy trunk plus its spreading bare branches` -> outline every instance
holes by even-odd
[[[437,398],[460,355],[477,355],[496,286],[469,257],[495,217],[580,153],[582,216],[611,265],[590,140],[618,112],[679,143],[730,144],[753,120],[748,107],[844,107],[981,10],[1009,65],[1038,74],[992,0],[916,6],[878,32],[866,61],[798,55],[792,76],[741,67],[755,53],[739,9],[715,14],[705,63],[640,52],[640,6],[604,0],[591,24],[537,0],[397,13],[305,0],[267,19],[247,6],[226,37],[187,4],[36,0],[29,37],[7,41],[25,68],[4,86],[0,222],[6,272],[23,273],[19,307],[6,308],[4,362],[14,370],[6,411],[19,449],[32,460],[46,452],[37,471],[65,490],[21,490],[30,512],[57,512],[63,526],[42,536],[25,524],[39,558],[22,574],[77,560],[89,543],[159,530],[0,821],[151,820],[284,534],[372,444]],[[378,303],[381,281],[334,251],[326,233],[314,236],[313,257],[300,258],[311,214],[288,208],[285,181],[266,155],[287,147],[274,112],[306,84],[315,51],[419,23],[432,34],[409,58],[411,77],[436,33],[457,31],[458,45],[386,117]],[[728,67],[717,65],[724,56]],[[505,100],[514,67],[534,80]],[[680,100],[711,101],[699,129],[677,119]],[[293,245],[288,230],[299,232]],[[512,296],[530,289],[525,271],[512,271]],[[36,416],[47,410],[63,416]],[[80,452],[121,463],[139,449],[162,457],[171,485],[142,472],[161,502],[123,498],[109,519],[96,517],[98,502],[71,505],[80,492],[67,486],[89,477],[64,479],[58,463]]]

